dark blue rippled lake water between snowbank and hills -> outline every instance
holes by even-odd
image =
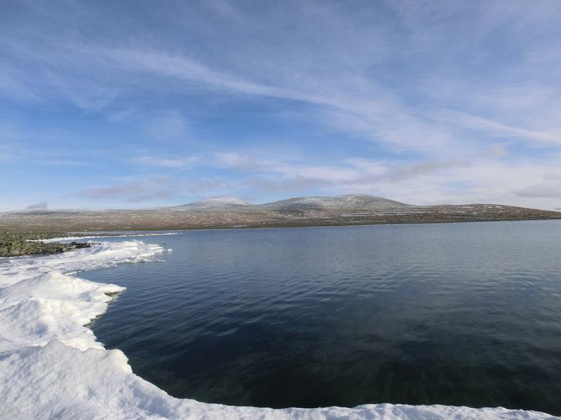
[[[114,239],[119,240],[119,239]],[[191,231],[93,324],[176,397],[561,414],[561,222]]]

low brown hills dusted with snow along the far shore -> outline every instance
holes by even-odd
[[[265,204],[218,197],[158,209],[11,211],[0,214],[0,231],[276,228],[542,219],[561,219],[561,212],[501,204],[415,206],[359,194],[295,197]]]

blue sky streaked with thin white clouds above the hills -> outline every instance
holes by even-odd
[[[561,1],[0,0],[0,211],[561,209]]]

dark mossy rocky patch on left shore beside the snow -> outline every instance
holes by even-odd
[[[21,255],[61,253],[72,249],[90,248],[86,242],[72,241],[62,244],[60,242],[43,242],[39,239],[62,237],[65,234],[55,233],[0,233],[0,257],[19,257]]]

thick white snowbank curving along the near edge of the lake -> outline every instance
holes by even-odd
[[[102,242],[58,255],[0,258],[0,419],[553,419],[442,405],[267,409],[177,399],[133,373],[87,328],[120,286],[76,271],[154,260],[161,246]]]

